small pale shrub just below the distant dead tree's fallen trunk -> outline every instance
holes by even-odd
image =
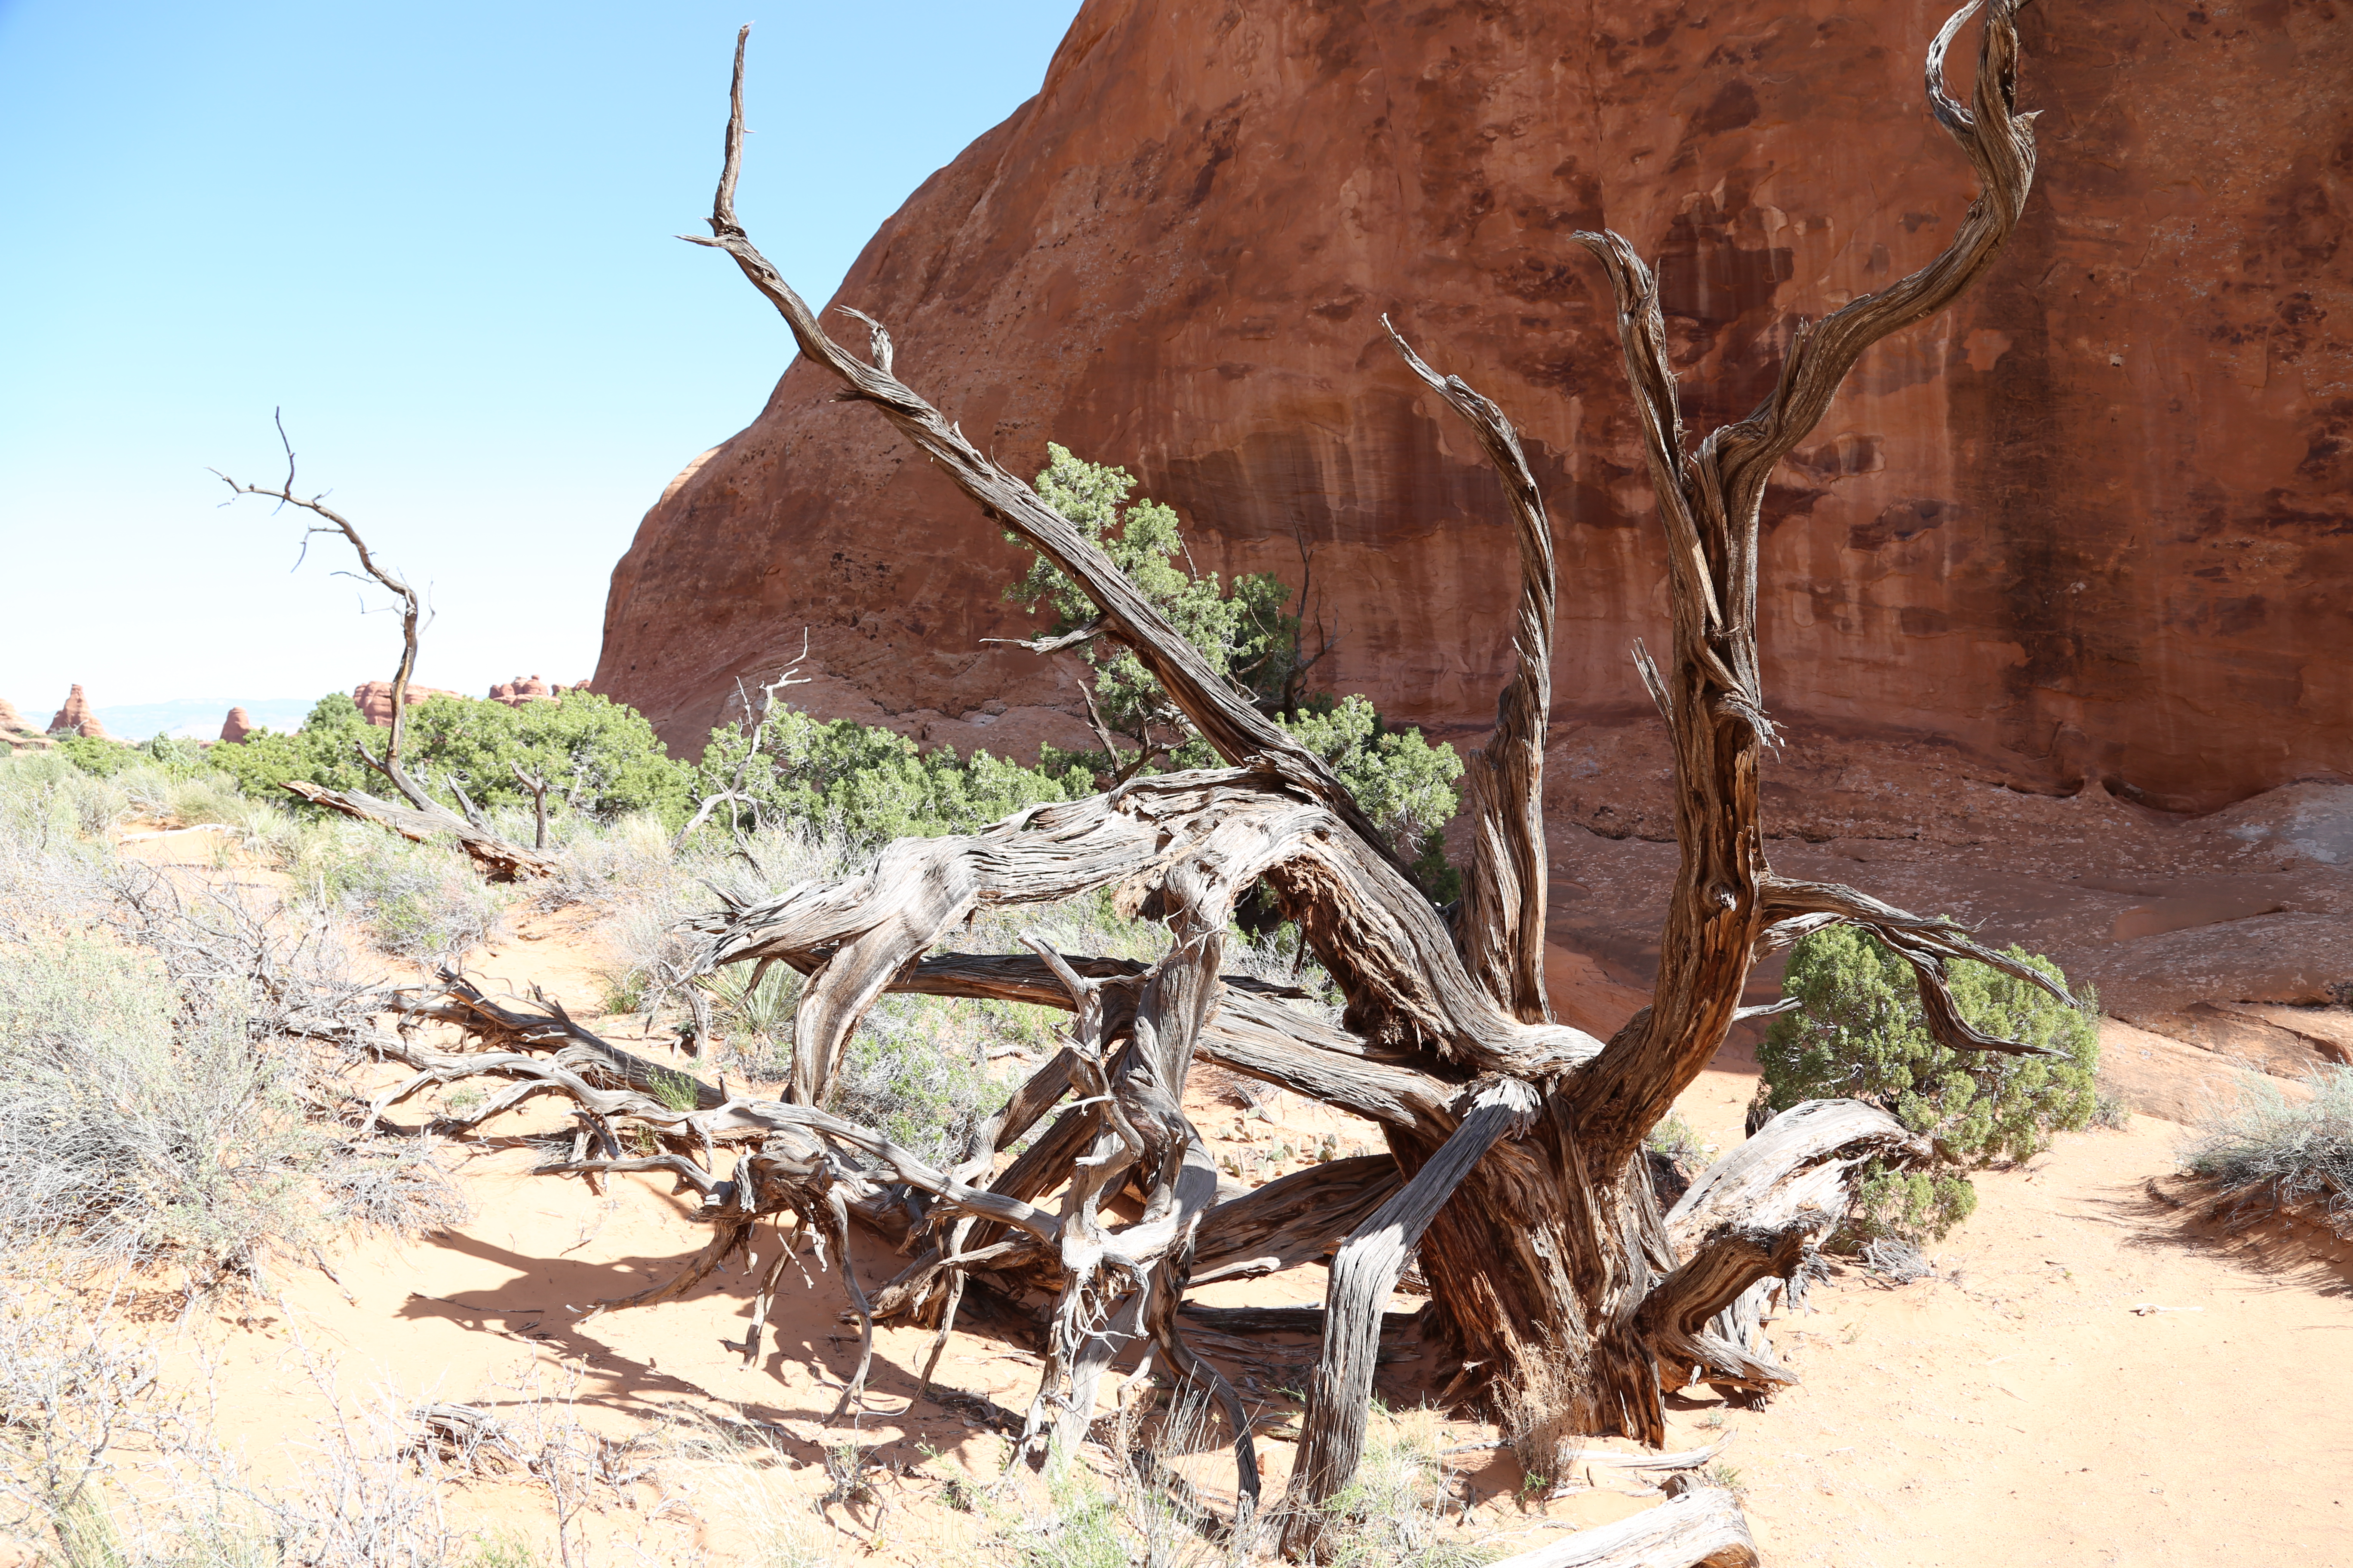
[[[492,943],[508,903],[454,846],[412,844],[374,823],[320,823],[287,870],[308,907],[367,926],[384,952],[407,959],[454,961]]]

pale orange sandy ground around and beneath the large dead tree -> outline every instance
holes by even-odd
[[[515,992],[541,985],[593,1013],[588,919],[527,914],[515,929],[478,973]],[[609,1027],[626,1037],[626,1023]],[[1682,1110],[1708,1143],[1729,1145],[1753,1086],[1753,1060],[1727,1048]],[[1287,1095],[1264,1117],[1207,1098],[1193,1110],[1254,1180],[1297,1168],[1325,1135],[1344,1152],[1369,1143],[1365,1128]],[[1026,1335],[967,1319],[941,1359],[944,1396],[908,1408],[932,1335],[882,1331],[873,1413],[852,1429],[828,1427],[826,1415],[856,1331],[840,1321],[838,1279],[814,1262],[807,1281],[788,1274],[753,1366],[739,1349],[751,1300],[741,1272],[579,1324],[581,1307],[664,1279],[706,1232],[666,1180],[626,1175],[598,1197],[576,1180],[527,1175],[536,1152],[515,1135],[555,1121],[525,1107],[478,1147],[452,1150],[468,1222],[405,1246],[351,1239],[325,1258],[332,1274],[289,1269],[271,1302],[216,1314],[202,1335],[209,1371],[181,1356],[174,1375],[209,1387],[224,1436],[264,1474],[292,1474],[304,1460],[306,1434],[329,1410],[329,1373],[346,1401],[376,1389],[388,1408],[466,1399],[525,1410],[534,1392],[569,1389],[579,1420],[614,1436],[666,1415],[760,1422],[809,1497],[828,1486],[826,1450],[856,1441],[880,1467],[880,1521],[873,1505],[835,1505],[838,1533],[816,1544],[845,1559],[969,1554],[991,1526],[951,1507],[948,1483],[1002,1462],[993,1422],[1026,1406],[1040,1366]],[[1802,1316],[1774,1326],[1802,1387],[1758,1410],[1722,1408],[1706,1389],[1678,1396],[1673,1446],[1732,1434],[1722,1462],[1739,1472],[1772,1563],[2353,1566],[2353,1248],[2294,1227],[2242,1241],[2214,1234],[2169,1178],[2177,1140],[2177,1126],[2137,1117],[2127,1131],[2066,1135],[2026,1171],[1984,1175],[1979,1211],[1937,1253],[1932,1279],[1887,1288],[1835,1274]],[[765,1237],[758,1251],[776,1244]],[[896,1262],[856,1237],[854,1267],[868,1286]],[[1322,1272],[1202,1295],[1318,1302]],[[1297,1385],[1311,1354],[1301,1345],[1287,1363]],[[1452,1368],[1433,1356],[1386,1368],[1386,1396],[1412,1403],[1442,1385]],[[1264,1403],[1273,1495],[1297,1406],[1275,1392],[1282,1373],[1231,1366]],[[1494,1436],[1473,1420],[1449,1420],[1447,1434]],[[1657,1500],[1640,1481],[1598,1472],[1598,1486],[1544,1502],[1508,1453],[1459,1462],[1457,1488],[1478,1500],[1461,1528],[1511,1533],[1504,1549],[1558,1540],[1551,1521],[1598,1523]],[[544,1533],[539,1493],[485,1486],[475,1507]],[[633,1507],[602,1507],[588,1528],[595,1561],[687,1561],[704,1544],[739,1544],[713,1533],[725,1509],[675,1481],[638,1488]]]

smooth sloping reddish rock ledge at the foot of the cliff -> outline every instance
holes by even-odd
[[[1795,726],[1762,766],[1765,853],[1784,875],[2054,957],[2120,1020],[2111,1048],[2144,1067],[2118,1081],[2153,1114],[2188,1114],[2181,1084],[2353,1063],[2353,783],[2301,780],[2207,816],[2097,783],[2073,797],[2014,783],[1951,743]],[[1553,999],[1607,1034],[1647,999],[1675,870],[1659,726],[1560,726],[1544,795]],[[1751,999],[1779,985],[1769,959]]]

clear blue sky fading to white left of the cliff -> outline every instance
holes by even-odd
[[[791,355],[671,237],[704,233],[734,28],[739,207],[826,299],[1075,9],[0,0],[0,696],[391,670],[344,555],[289,571],[292,515],[219,505],[207,468],[282,475],[273,407],[299,487],[433,585],[419,679],[588,675],[638,517]]]

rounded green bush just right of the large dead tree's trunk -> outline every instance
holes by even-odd
[[[2007,957],[2064,980],[2049,959],[2021,947]],[[1866,1100],[1934,1140],[1934,1159],[1922,1168],[1897,1171],[1878,1161],[1866,1168],[1847,1220],[1852,1244],[1941,1237],[1977,1208],[1969,1166],[2038,1154],[2052,1133],[2080,1128],[2092,1117],[2099,1013],[2089,987],[2080,992],[2082,1006],[2071,1009],[1967,959],[1953,964],[1951,987],[1974,1027],[2057,1056],[1937,1044],[1911,966],[1866,931],[1828,926],[1791,952],[1784,992],[1798,999],[1798,1011],[1777,1018],[1758,1048],[1765,1110]]]

